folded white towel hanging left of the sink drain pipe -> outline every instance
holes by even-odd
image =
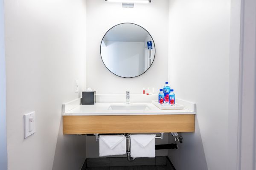
[[[99,156],[123,155],[126,153],[124,135],[99,136]]]

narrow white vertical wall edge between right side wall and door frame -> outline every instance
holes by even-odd
[[[241,0],[231,1],[230,11],[230,60],[229,60],[229,113],[227,169],[236,170],[238,159],[239,120],[239,57]]]

